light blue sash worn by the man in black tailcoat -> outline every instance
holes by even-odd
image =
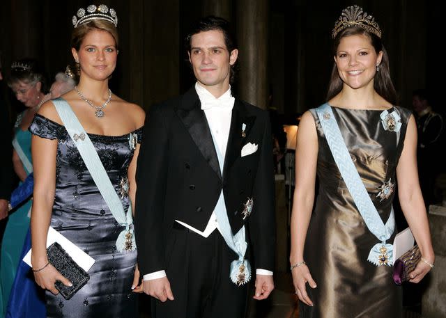
[[[220,170],[223,175],[224,157],[222,152],[220,152],[220,148],[218,148],[217,141],[215,141],[215,137],[212,133],[212,129],[210,129],[210,134],[212,135],[214,141],[218,163],[220,164]],[[232,235],[231,225],[229,223],[226,205],[224,203],[223,190],[220,192],[220,197],[218,198],[217,205],[215,205],[214,212],[217,216],[218,229],[220,230],[224,241],[232,251],[238,254],[238,260],[231,262],[229,277],[234,284],[238,286],[244,285],[251,279],[251,264],[249,264],[248,260],[245,260],[245,253],[247,249],[247,243],[245,241],[245,225],[243,225],[243,227],[235,235]]]

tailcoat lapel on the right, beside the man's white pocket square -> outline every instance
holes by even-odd
[[[249,132],[256,120],[255,116],[248,116],[245,105],[236,99],[232,109],[231,129],[229,130],[228,145],[226,155],[224,156],[223,177],[238,157],[240,157],[242,148],[249,142]],[[243,124],[245,127],[245,136],[243,133]]]

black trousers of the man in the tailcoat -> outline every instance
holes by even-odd
[[[175,300],[153,299],[154,318],[245,317],[248,287],[238,287],[229,278],[238,255],[218,230],[204,238],[178,224],[166,246],[166,273]]]

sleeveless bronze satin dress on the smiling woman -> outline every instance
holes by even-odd
[[[395,183],[410,111],[394,107],[402,125],[399,132],[390,132],[381,122],[382,111],[332,109],[353,163],[385,223],[394,191],[381,200],[378,187],[388,180]],[[379,241],[367,229],[341,178],[316,111],[310,112],[318,134],[319,187],[305,241],[305,261],[317,287],[307,286],[314,307],[300,302],[299,317],[401,317],[401,287],[393,283],[392,267],[367,261],[371,247]],[[396,232],[388,242],[392,243]]]

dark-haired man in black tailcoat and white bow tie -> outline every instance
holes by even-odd
[[[144,126],[139,271],[156,318],[245,317],[250,271],[254,299],[274,288],[270,121],[231,95],[238,50],[226,20],[201,19],[186,47],[197,83],[151,107]]]

